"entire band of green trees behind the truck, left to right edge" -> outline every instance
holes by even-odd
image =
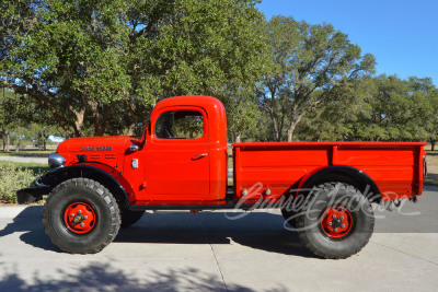
[[[420,141],[438,132],[429,78],[374,75],[330,24],[255,0],[1,0],[3,150],[61,137],[139,135],[153,105],[212,95],[233,141]]]

